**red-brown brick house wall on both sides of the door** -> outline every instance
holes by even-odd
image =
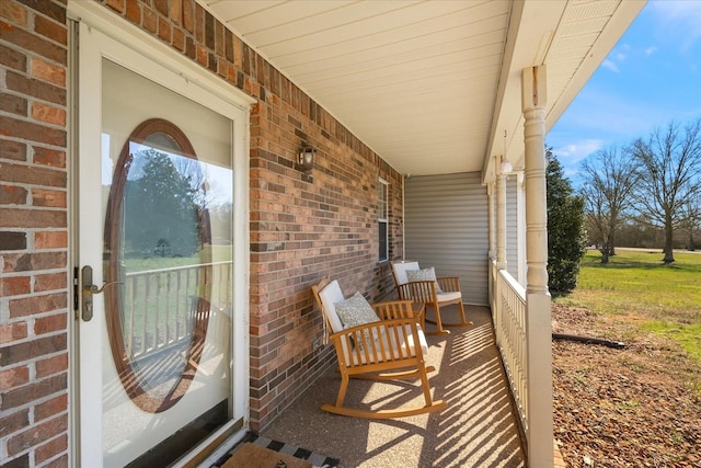
[[[377,262],[377,184],[390,182],[401,258],[402,179],[194,0],[103,0],[124,21],[257,100],[251,114],[251,425],[333,362],[310,286],[393,297]],[[0,1],[1,466],[68,464],[67,19],[62,1]],[[317,149],[302,174],[296,153]]]

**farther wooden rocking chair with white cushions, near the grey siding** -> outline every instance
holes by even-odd
[[[428,309],[434,309],[436,316],[436,331],[427,334],[449,333],[445,327],[469,327],[471,321],[464,317],[464,306],[462,305],[462,293],[460,292],[460,278],[457,276],[445,276],[436,281],[409,281],[411,271],[421,271],[418,262],[399,261],[392,262],[392,276],[397,294],[401,300],[413,300],[422,303]],[[437,288],[437,286],[439,288]],[[457,304],[460,308],[459,323],[444,323],[440,319],[440,308],[451,304]],[[429,321],[429,320],[426,320]],[[433,322],[432,322],[433,323]]]

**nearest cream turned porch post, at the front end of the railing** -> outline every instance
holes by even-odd
[[[552,326],[548,290],[545,66],[524,69],[528,466],[553,465]]]

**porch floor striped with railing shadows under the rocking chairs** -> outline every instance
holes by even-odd
[[[363,420],[320,410],[334,402],[340,377],[324,374],[261,435],[341,459],[354,467],[525,467],[490,309],[468,306],[469,328],[427,336],[427,364],[434,399],[448,408],[397,420]],[[457,322],[457,307],[444,313]],[[426,328],[433,327],[427,323]],[[421,404],[414,381],[379,384],[352,380],[346,404]]]

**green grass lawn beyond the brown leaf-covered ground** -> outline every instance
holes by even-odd
[[[589,251],[577,288],[553,300],[631,319],[642,331],[678,342],[701,363],[701,252],[675,252],[665,265],[659,250],[617,249],[609,264]]]

